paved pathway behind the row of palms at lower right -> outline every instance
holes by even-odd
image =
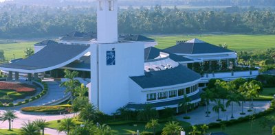
[[[270,107],[270,101],[254,101],[253,104],[254,104],[254,108],[252,110],[254,110],[255,113],[263,112],[264,110],[267,110],[267,108]],[[176,116],[176,118],[179,121],[186,121],[188,123],[191,123],[192,125],[217,122],[216,120],[218,115],[216,112],[212,111],[212,107],[214,105],[215,105],[214,102],[210,103],[209,117],[206,117],[206,107],[200,106],[196,110],[193,110],[192,112],[188,112],[187,116],[190,116],[191,119],[183,119],[185,114]],[[237,105],[236,103],[233,104],[234,119],[238,119],[239,117],[253,114],[253,112],[247,111],[249,109],[249,101],[243,103],[243,106],[244,106],[243,112],[245,112],[245,115],[240,114],[241,106]],[[230,120],[230,117],[231,117],[231,106],[228,106],[226,112],[220,112],[220,119],[222,119],[223,121],[227,121],[227,120]]]

